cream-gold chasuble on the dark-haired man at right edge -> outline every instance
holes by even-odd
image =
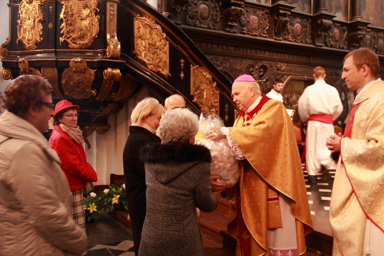
[[[340,140],[341,160],[329,213],[333,255],[365,255],[375,245],[373,239],[379,240],[376,244],[384,243],[384,82],[377,79],[360,93],[353,105],[361,104],[347,123],[352,128],[345,136],[350,138]],[[381,233],[381,239],[369,235],[367,220]],[[366,247],[365,236],[370,241]]]

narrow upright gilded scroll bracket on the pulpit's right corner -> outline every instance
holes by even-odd
[[[108,3],[109,5],[109,18],[106,18],[106,56],[108,58],[119,58],[120,57],[120,42],[117,39],[116,34],[116,4]]]

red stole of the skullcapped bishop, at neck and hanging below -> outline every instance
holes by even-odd
[[[262,99],[260,103],[250,112],[240,112],[240,116],[243,117],[243,125],[249,126],[251,124],[252,119],[258,114],[259,110],[261,110],[262,106],[270,100],[265,95],[261,95]],[[243,215],[241,214],[241,197],[238,197],[238,229],[239,229],[239,242],[241,248],[242,256],[250,256],[251,255],[251,233],[249,232],[247,225],[245,225]]]

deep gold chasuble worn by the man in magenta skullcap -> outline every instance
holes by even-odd
[[[250,120],[244,123],[244,117],[239,116],[233,127],[228,127],[230,137],[246,157],[240,161],[239,183],[226,190],[231,202],[228,231],[237,238],[237,255],[245,254],[239,248],[242,239],[250,242],[251,255],[269,255],[267,231],[282,227],[278,200],[282,194],[290,199],[296,222],[292,236],[297,237],[298,254],[304,254],[305,235],[313,228],[293,124],[280,101],[263,99],[261,109],[260,104],[256,106],[258,112],[250,118],[246,113]],[[239,236],[239,197],[250,237]]]

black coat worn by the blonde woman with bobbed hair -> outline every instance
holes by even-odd
[[[148,143],[161,143],[161,139],[139,126],[130,126],[130,135],[123,151],[125,194],[131,218],[133,242],[137,255],[140,247],[141,230],[145,219],[145,171],[140,161],[139,150]]]

